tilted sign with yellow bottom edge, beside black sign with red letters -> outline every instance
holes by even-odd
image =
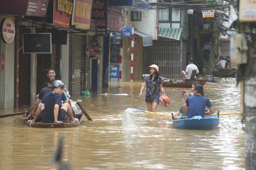
[[[92,0],[74,0],[72,25],[78,29],[90,29]]]

